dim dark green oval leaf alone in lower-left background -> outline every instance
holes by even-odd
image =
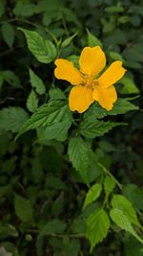
[[[29,199],[15,195],[14,209],[17,217],[24,222],[32,221],[32,208]]]

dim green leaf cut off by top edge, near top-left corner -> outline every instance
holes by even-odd
[[[20,0],[16,2],[13,13],[16,16],[28,17],[33,15],[35,6],[29,0]]]

